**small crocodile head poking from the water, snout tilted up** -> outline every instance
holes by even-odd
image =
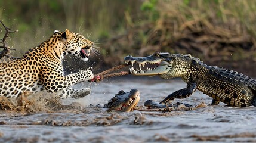
[[[104,108],[107,111],[129,112],[138,104],[140,100],[140,91],[131,89],[130,92],[119,91],[115,97],[111,98]]]

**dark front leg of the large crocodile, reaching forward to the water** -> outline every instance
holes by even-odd
[[[163,101],[160,103],[166,104],[170,100],[174,100],[175,98],[186,98],[192,95],[196,91],[196,82],[193,80],[190,80],[187,83],[187,88],[180,89],[178,91],[173,92],[172,94],[168,95]]]

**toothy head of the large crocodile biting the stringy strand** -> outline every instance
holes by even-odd
[[[135,76],[155,76],[168,73],[172,69],[173,61],[168,52],[155,52],[147,57],[132,57],[128,55],[124,58],[126,64],[131,64],[129,69]],[[137,66],[137,67],[136,67]]]

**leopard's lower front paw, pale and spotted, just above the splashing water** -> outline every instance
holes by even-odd
[[[86,95],[90,94],[91,88],[83,88],[83,89],[73,89],[73,88],[66,88],[61,91],[57,92],[57,95],[64,99],[64,98],[82,98]]]

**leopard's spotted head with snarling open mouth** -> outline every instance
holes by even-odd
[[[63,57],[67,54],[72,54],[83,61],[88,60],[93,42],[81,34],[69,32],[67,29],[61,34],[61,39],[64,42]]]

